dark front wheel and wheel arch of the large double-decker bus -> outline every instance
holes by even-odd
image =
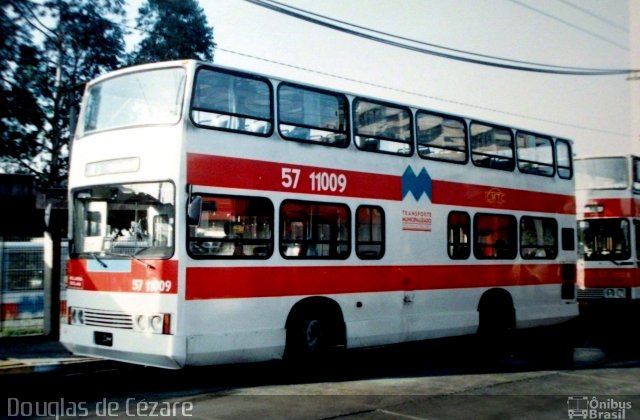
[[[309,297],[296,303],[285,324],[288,359],[322,357],[346,344],[346,327],[340,305],[326,297]]]

